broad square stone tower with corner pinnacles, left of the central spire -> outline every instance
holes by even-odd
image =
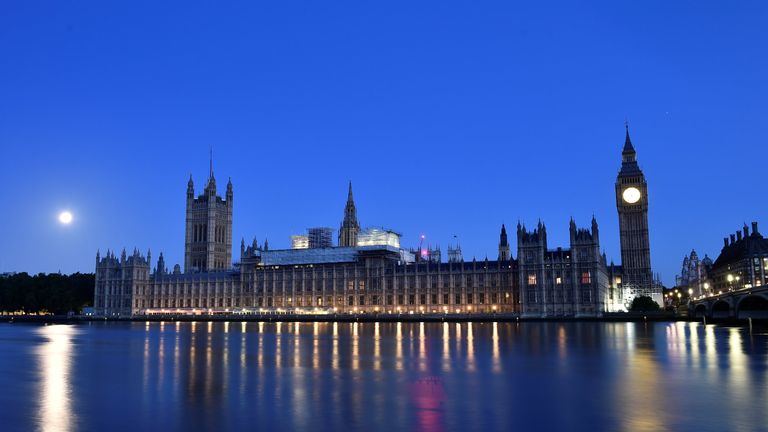
[[[213,158],[208,184],[197,198],[189,176],[184,272],[223,271],[232,267],[232,198],[231,179],[227,182],[226,198],[216,194]]]

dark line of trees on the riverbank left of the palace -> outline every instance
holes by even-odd
[[[80,313],[93,304],[93,273],[58,273],[0,277],[0,313]]]

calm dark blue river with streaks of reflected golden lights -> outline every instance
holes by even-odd
[[[697,323],[0,324],[0,430],[768,430]]]

